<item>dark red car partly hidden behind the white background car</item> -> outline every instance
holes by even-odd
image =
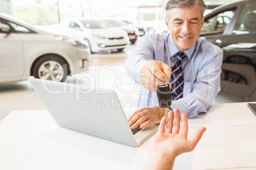
[[[123,22],[122,20],[106,19],[104,21],[114,25],[115,27],[125,30],[132,44],[134,44],[137,41],[139,34],[139,30],[137,28],[130,27],[127,23]]]

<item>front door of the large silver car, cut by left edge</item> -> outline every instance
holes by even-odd
[[[10,22],[0,18],[0,24],[10,27],[10,31],[0,30],[0,82],[17,81],[24,74],[24,51],[22,41]]]

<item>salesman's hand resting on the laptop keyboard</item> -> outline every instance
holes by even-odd
[[[131,114],[128,122],[132,129],[138,128],[138,126],[143,129],[150,124],[159,124],[164,115],[164,108],[144,107]]]

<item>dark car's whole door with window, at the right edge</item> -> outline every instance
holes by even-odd
[[[229,35],[222,39],[222,91],[255,100],[256,90],[256,3],[241,11]]]

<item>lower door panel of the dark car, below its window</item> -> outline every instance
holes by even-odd
[[[222,44],[222,91],[242,98],[255,98],[256,32],[226,36]]]

